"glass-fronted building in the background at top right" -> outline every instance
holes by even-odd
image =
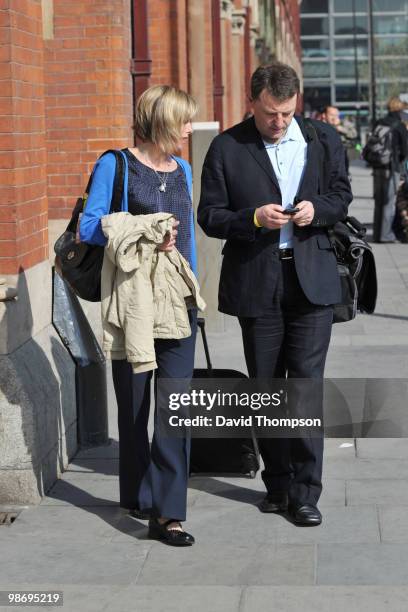
[[[300,8],[305,110],[332,104],[367,125],[372,74],[377,116],[408,90],[408,0],[303,0]]]

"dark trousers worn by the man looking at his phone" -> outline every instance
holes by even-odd
[[[260,317],[239,319],[249,376],[323,379],[332,320],[332,306],[316,306],[307,300],[294,260],[282,260],[268,311]],[[309,406],[312,414],[307,416],[322,418],[320,393]],[[287,491],[292,505],[315,505],[322,489],[323,435],[260,438],[259,446],[267,491]]]

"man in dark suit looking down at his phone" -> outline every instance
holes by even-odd
[[[295,116],[298,94],[290,66],[259,67],[253,117],[217,136],[203,167],[198,222],[226,239],[219,310],[239,318],[251,378],[321,380],[332,305],[341,299],[326,228],[352,200],[344,150],[331,126]],[[288,214],[294,203],[298,212]],[[295,524],[320,524],[322,437],[259,443],[267,490],[260,510],[288,509]]]

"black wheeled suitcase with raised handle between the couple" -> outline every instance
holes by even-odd
[[[195,378],[241,378],[247,376],[237,370],[213,369],[205,334],[205,321],[199,318],[207,368],[196,368]],[[192,438],[190,455],[190,474],[246,474],[255,478],[259,470],[259,449],[254,432],[250,438]]]

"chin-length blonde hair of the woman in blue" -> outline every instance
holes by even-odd
[[[197,112],[197,103],[188,93],[170,85],[154,85],[136,103],[135,131],[168,155],[174,153],[183,125]]]

